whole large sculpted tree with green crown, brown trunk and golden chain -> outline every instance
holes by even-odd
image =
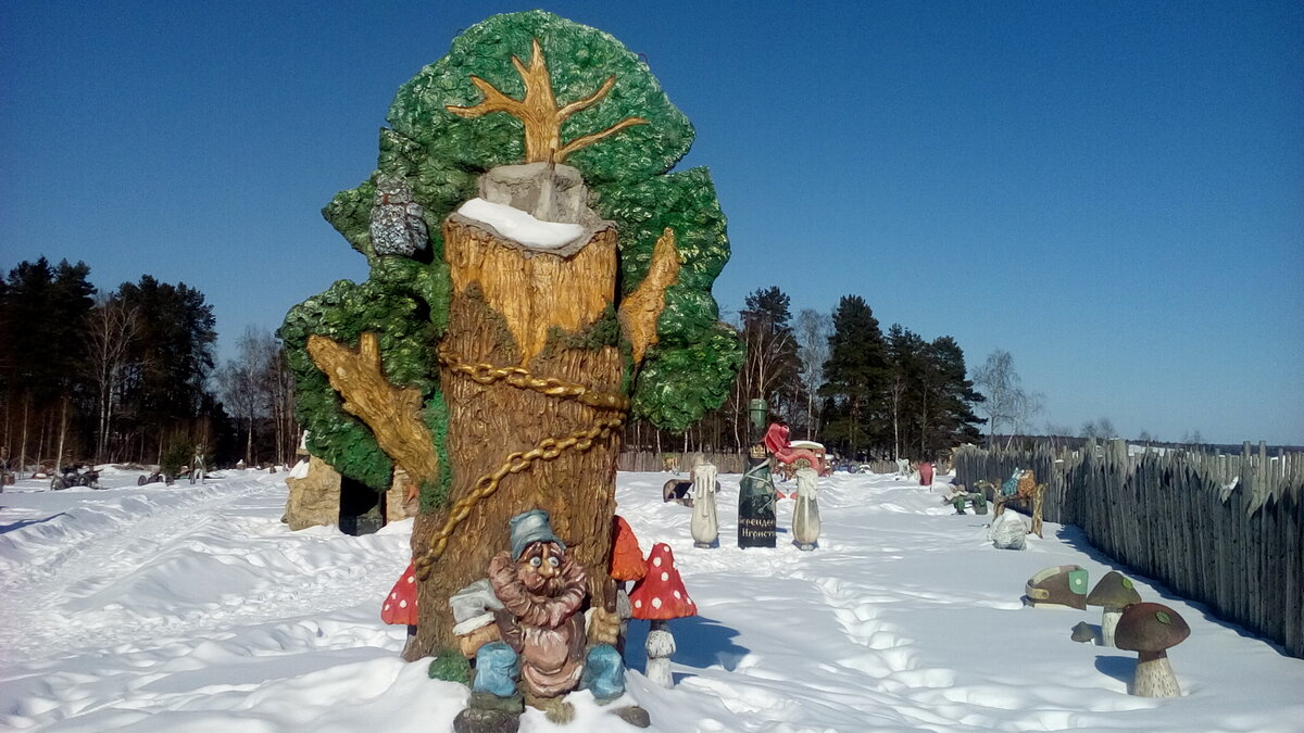
[[[542,509],[587,570],[591,640],[614,640],[615,459],[630,413],[683,429],[741,363],[711,284],[729,257],[692,128],[610,35],[494,16],[399,89],[378,170],[326,219],[370,277],[280,329],[308,447],[377,490],[420,492],[419,633]]]

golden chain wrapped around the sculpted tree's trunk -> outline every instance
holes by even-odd
[[[475,509],[481,500],[498,490],[498,485],[503,477],[509,473],[520,473],[522,471],[529,468],[529,466],[536,460],[553,460],[567,450],[576,450],[580,453],[587,451],[593,447],[595,441],[606,438],[613,430],[623,425],[625,412],[630,408],[629,398],[621,394],[596,391],[585,387],[584,385],[567,383],[553,377],[537,378],[528,370],[519,366],[464,364],[443,347],[439,348],[439,361],[450,370],[463,374],[481,385],[492,385],[498,381],[506,381],[509,385],[518,389],[533,390],[558,398],[574,398],[582,404],[599,410],[614,410],[617,411],[617,415],[612,417],[600,417],[591,428],[576,430],[565,438],[544,438],[532,450],[509,454],[507,459],[498,467],[497,471],[485,473],[484,476],[476,479],[475,488],[471,493],[462,497],[452,505],[452,509],[449,511],[449,518],[443,522],[443,527],[439,527],[439,531],[432,535],[429,549],[426,549],[421,557],[416,558],[416,574],[422,580],[430,575],[430,570],[436,561],[443,556],[443,550],[449,546],[449,537],[452,536],[452,531],[471,515],[471,510]]]

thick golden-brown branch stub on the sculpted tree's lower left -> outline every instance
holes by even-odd
[[[421,393],[395,387],[385,378],[376,334],[363,334],[357,351],[313,334],[308,337],[308,355],[344,398],[344,411],[366,423],[381,450],[399,468],[417,484],[438,479],[434,438],[421,421]]]

